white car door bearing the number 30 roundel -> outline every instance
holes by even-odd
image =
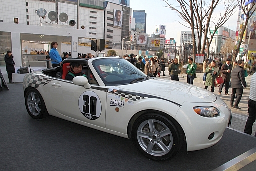
[[[89,89],[72,81],[54,79],[50,82],[50,97],[55,114],[105,127],[105,87]]]

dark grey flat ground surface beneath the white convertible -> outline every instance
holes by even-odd
[[[256,147],[253,136],[226,129],[214,146],[155,162],[125,139],[57,117],[32,119],[22,84],[0,93],[0,170],[213,170]]]

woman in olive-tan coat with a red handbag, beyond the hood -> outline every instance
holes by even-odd
[[[209,86],[211,86],[211,92],[214,92],[214,81],[215,78],[218,77],[219,75],[219,70],[218,72],[215,72],[216,68],[216,61],[212,60],[209,66],[206,68],[205,73],[206,73],[206,81],[205,81],[205,87],[204,89],[208,89]]]

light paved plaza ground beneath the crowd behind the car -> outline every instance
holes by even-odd
[[[165,68],[165,75],[162,75],[161,72],[161,76],[160,77],[156,77],[159,79],[168,79],[170,80],[170,76],[169,76],[169,72],[168,72],[168,68]],[[203,77],[203,73],[196,73],[197,78],[194,79],[194,85],[198,86],[198,87],[202,87],[204,88],[204,84],[202,81],[202,77]],[[187,82],[187,78],[186,78],[186,74],[179,74],[179,81],[180,82]],[[236,110],[233,107],[230,107],[230,98],[231,98],[231,88],[229,88],[229,95],[225,95],[223,92],[221,95],[218,94],[218,87],[215,87],[215,91],[214,94],[220,96],[220,98],[222,100],[224,100],[224,102],[227,104],[227,106],[232,110],[232,123],[231,123],[231,128],[238,130],[240,132],[244,131],[244,127],[248,118],[248,100],[249,100],[249,85],[250,85],[250,79],[251,76],[247,76],[245,78],[246,83],[248,84],[248,87],[246,89],[243,90],[243,95],[242,95],[242,99],[239,103],[239,107],[241,108],[241,110]],[[210,87],[208,88],[208,90],[210,90]],[[234,101],[235,102],[235,101]],[[255,131],[256,131],[256,123],[253,124],[252,127],[252,135],[255,135]]]

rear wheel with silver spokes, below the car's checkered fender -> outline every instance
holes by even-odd
[[[34,119],[49,116],[41,94],[36,89],[29,89],[25,94],[25,104],[28,114]]]

